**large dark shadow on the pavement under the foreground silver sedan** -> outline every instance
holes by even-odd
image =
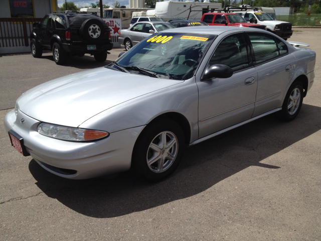
[[[138,181],[129,172],[113,179],[69,180],[47,172],[34,160],[29,169],[48,197],[83,215],[116,217],[188,199],[250,166],[282,168],[281,161],[273,166],[266,158],[320,129],[321,108],[317,106],[303,104],[289,123],[271,114],[188,148],[174,175],[158,183]]]

